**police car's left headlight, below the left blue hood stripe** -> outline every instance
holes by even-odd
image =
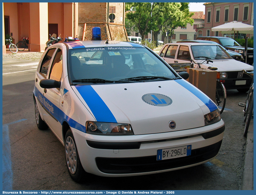
[[[134,135],[130,124],[86,122],[86,132],[98,135]]]

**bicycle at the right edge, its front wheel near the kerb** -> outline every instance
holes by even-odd
[[[247,72],[246,70],[243,70],[243,73],[253,78],[253,72]],[[245,122],[244,133],[243,133],[244,137],[247,136],[252,115],[253,115],[253,79],[252,79],[252,84],[250,86],[250,89],[248,91],[248,95],[244,104],[244,122]]]

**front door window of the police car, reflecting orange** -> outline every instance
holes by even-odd
[[[60,81],[62,75],[62,51],[57,50],[54,61],[51,66],[50,79]]]

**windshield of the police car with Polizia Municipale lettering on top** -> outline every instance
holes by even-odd
[[[175,72],[147,48],[94,47],[72,49],[69,53],[70,77],[73,83],[95,82],[95,78],[108,81],[99,83],[111,83],[109,81],[124,81],[134,77],[151,77],[155,81],[177,77]],[[139,79],[136,81],[139,82]]]

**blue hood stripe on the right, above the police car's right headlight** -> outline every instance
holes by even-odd
[[[196,87],[191,86],[183,79],[178,79],[175,81],[179,83],[181,86],[183,86],[185,89],[193,93],[196,97],[198,97],[209,108],[210,112],[215,111],[217,109],[215,103],[213,103],[209,97],[207,97],[204,93],[199,91]]]

